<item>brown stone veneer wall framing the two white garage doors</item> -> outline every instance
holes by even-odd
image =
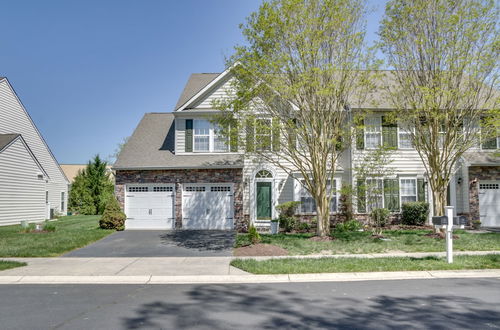
[[[175,228],[182,228],[183,183],[234,183],[234,227],[246,231],[248,222],[243,217],[243,186],[241,169],[194,169],[194,170],[117,170],[115,195],[123,209],[125,185],[138,183],[175,184]]]

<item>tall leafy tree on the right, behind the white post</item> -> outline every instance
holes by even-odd
[[[490,110],[498,107],[498,18],[494,0],[386,6],[380,45],[395,69],[388,97],[426,167],[435,215],[444,214],[459,158],[497,134]]]

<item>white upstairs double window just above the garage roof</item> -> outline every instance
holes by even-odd
[[[193,121],[193,142],[194,152],[229,151],[228,138],[216,124],[211,124],[208,120]]]

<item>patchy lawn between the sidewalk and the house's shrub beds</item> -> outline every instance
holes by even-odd
[[[425,236],[428,233],[431,231],[388,230],[384,237],[389,240],[380,240],[373,238],[369,231],[344,232],[335,233],[335,240],[327,242],[310,240],[313,234],[261,234],[261,243],[282,247],[290,255],[445,251],[445,240]],[[500,233],[472,234],[456,230],[453,234],[458,236],[453,240],[455,251],[500,250]],[[246,235],[238,235],[236,247],[247,243]]]

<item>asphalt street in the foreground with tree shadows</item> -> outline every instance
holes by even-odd
[[[10,329],[498,329],[499,279],[0,285]]]

